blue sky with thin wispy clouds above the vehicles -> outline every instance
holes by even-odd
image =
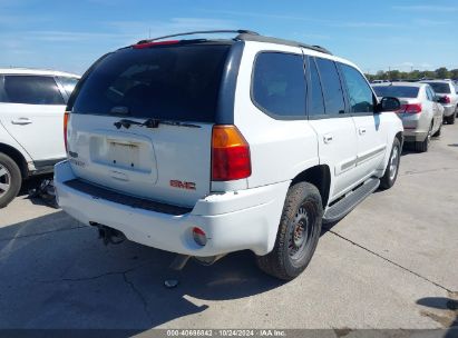
[[[320,44],[364,72],[458,68],[458,0],[0,0],[0,67],[82,73],[148,37],[249,29]]]

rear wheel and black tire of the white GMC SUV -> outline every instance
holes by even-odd
[[[273,250],[257,256],[264,272],[283,280],[298,277],[309,265],[320,238],[323,206],[315,186],[290,187]]]

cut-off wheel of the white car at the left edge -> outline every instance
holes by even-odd
[[[0,208],[8,206],[21,188],[22,176],[18,165],[0,152]]]

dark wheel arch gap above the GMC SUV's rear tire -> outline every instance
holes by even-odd
[[[320,191],[323,208],[328,206],[331,190],[331,170],[327,165],[318,165],[298,173],[291,181],[291,186],[298,182],[309,182]]]

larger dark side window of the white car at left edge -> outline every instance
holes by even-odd
[[[65,105],[52,77],[4,76],[6,102]]]

